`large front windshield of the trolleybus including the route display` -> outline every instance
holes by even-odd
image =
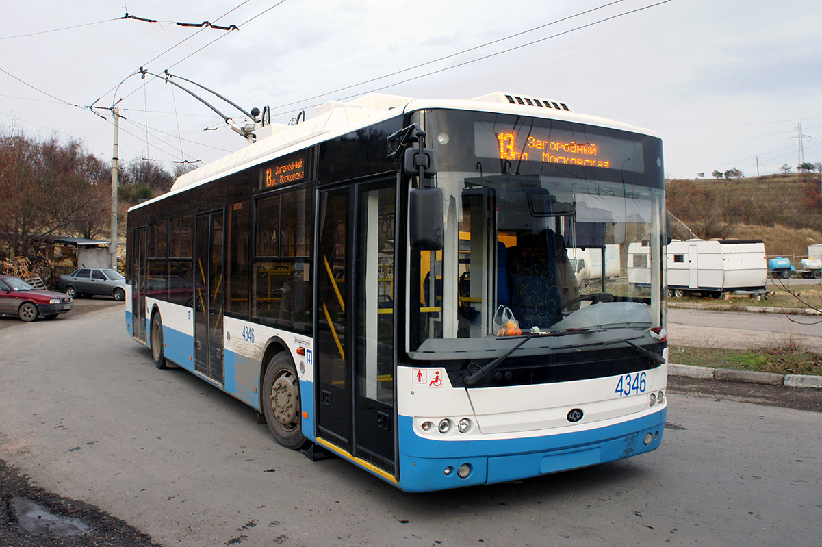
[[[500,340],[529,333],[552,336],[518,351],[576,343],[558,332],[641,342],[663,326],[657,138],[501,114],[425,114],[445,244],[411,254],[409,355],[494,357]]]

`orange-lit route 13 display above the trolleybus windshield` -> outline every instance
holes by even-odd
[[[474,123],[473,133],[474,153],[480,158],[644,171],[642,143],[637,141],[582,131],[487,122]]]

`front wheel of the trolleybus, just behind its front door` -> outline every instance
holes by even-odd
[[[305,445],[297,369],[294,369],[291,357],[284,351],[268,363],[262,381],[261,403],[268,429],[278,443],[292,450]]]

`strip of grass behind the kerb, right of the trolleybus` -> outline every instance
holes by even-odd
[[[671,345],[668,359],[672,363],[715,369],[822,376],[822,355],[806,350],[791,339],[750,350]]]

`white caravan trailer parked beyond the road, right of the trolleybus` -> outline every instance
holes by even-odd
[[[768,261],[761,239],[688,239],[667,245],[668,294],[764,291]]]

